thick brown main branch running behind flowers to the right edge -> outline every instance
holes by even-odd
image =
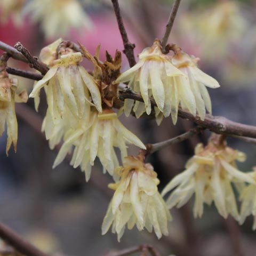
[[[139,93],[129,90],[119,91],[119,97],[121,99],[134,99],[143,102],[143,99]],[[157,106],[154,99],[150,99],[152,106]],[[237,135],[249,138],[256,138],[256,126],[241,124],[230,121],[226,117],[206,115],[204,121],[199,116],[193,116],[189,112],[179,108],[178,116],[202,126],[210,131],[224,135]]]

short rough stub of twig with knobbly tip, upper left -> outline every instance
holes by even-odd
[[[30,68],[35,68],[40,71],[43,75],[47,73],[49,68],[41,61],[37,60],[37,57],[33,57],[30,52],[20,43],[14,45],[15,49],[21,52],[24,57],[28,60],[28,65]]]

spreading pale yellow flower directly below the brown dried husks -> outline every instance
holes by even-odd
[[[91,166],[96,156],[99,157],[103,170],[113,175],[115,167],[119,165],[114,147],[121,150],[124,158],[127,156],[127,143],[146,149],[138,137],[123,126],[113,110],[103,110],[102,114],[92,110],[81,119],[76,129],[66,132],[53,168],[60,164],[74,147],[70,164],[75,168],[81,167],[85,172],[86,181],[90,179]]]

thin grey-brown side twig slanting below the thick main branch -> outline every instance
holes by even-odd
[[[187,131],[187,132],[185,132],[185,133],[183,133],[183,134],[181,134],[177,137],[174,137],[172,139],[161,141],[161,142],[154,143],[154,144],[148,144],[147,145],[147,155],[152,154],[155,151],[158,151],[158,150],[160,150],[162,148],[165,148],[167,146],[170,146],[170,145],[173,145],[175,143],[179,143],[183,140],[186,140],[189,137],[201,132],[202,130],[204,130],[204,128],[198,126],[196,128],[190,129],[189,131]]]

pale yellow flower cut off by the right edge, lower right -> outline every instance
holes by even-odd
[[[248,173],[250,177],[256,182],[256,167],[254,167],[254,171]],[[252,229],[256,229],[256,184],[250,184],[249,186],[245,187],[241,193],[240,201],[241,204],[241,212],[240,212],[240,220],[239,224],[242,225],[247,216],[253,215],[254,221]]]

